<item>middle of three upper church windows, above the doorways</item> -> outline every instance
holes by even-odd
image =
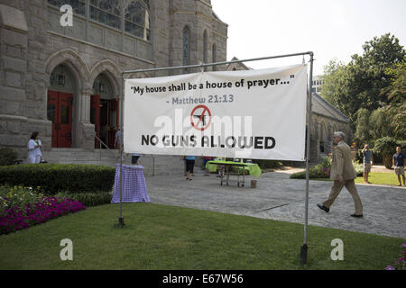
[[[121,29],[119,1],[90,0],[90,19],[116,29]]]

